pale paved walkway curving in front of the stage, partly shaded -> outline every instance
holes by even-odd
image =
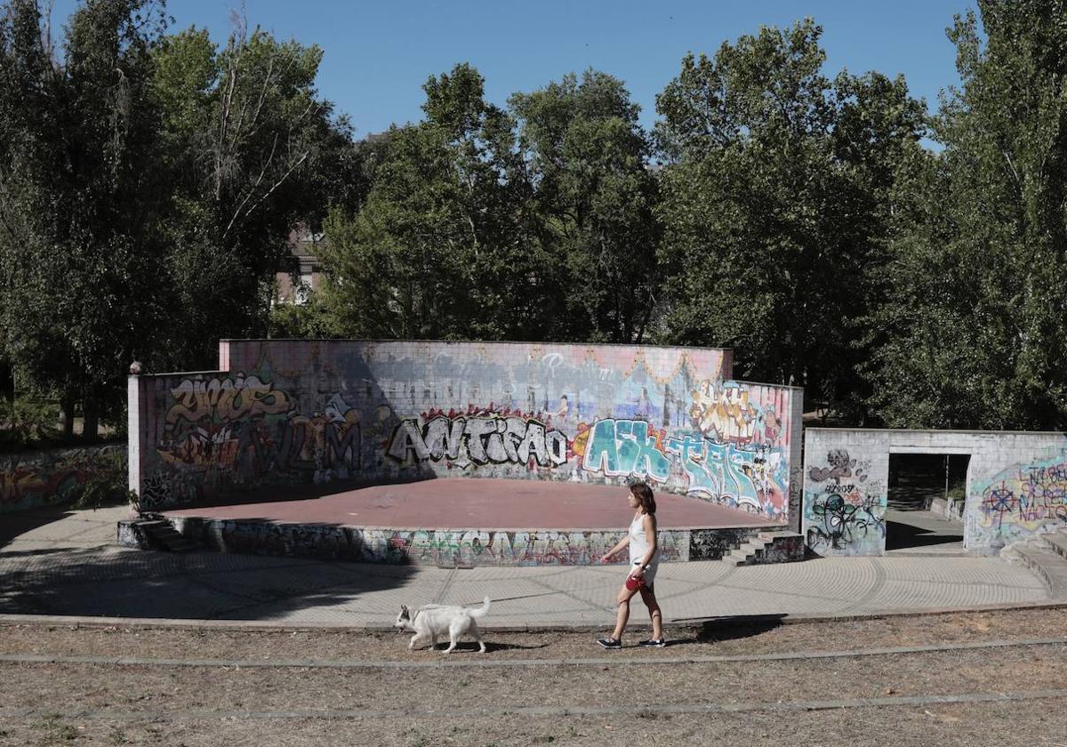
[[[118,547],[127,509],[0,515],[0,615],[387,626],[401,604],[494,600],[489,626],[607,625],[622,566],[443,570]],[[1048,603],[1044,582],[999,558],[823,558],[731,567],[665,563],[667,622],[719,616],[865,615]],[[635,620],[643,618],[638,605]]]

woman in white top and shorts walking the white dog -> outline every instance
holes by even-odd
[[[637,592],[649,609],[652,619],[652,637],[642,640],[638,646],[663,648],[667,646],[664,639],[663,613],[656,602],[653,584],[659,568],[659,544],[656,541],[656,502],[652,497],[652,489],[644,482],[630,486],[630,507],[634,509],[634,520],[630,523],[630,531],[601,558],[601,562],[610,562],[611,556],[623,547],[630,546],[630,571],[626,581],[619,589],[618,608],[615,617],[615,631],[606,638],[596,642],[605,649],[621,649],[622,634],[630,619],[630,600]]]

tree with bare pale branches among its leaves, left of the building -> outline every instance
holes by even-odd
[[[217,340],[267,331],[274,274],[299,222],[359,198],[346,120],[315,89],[322,52],[235,22],[225,48],[190,29],[155,50],[153,98],[173,189],[168,339],[154,363],[210,366]]]

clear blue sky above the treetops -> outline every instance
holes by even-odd
[[[57,0],[53,22],[76,0]],[[245,0],[250,28],[318,44],[325,52],[319,90],[351,116],[356,137],[421,117],[430,75],[469,62],[485,78],[487,97],[504,105],[567,73],[593,67],[625,81],[655,120],[655,96],[688,52],[708,55],[723,41],[761,25],[787,26],[812,16],[823,26],[826,71],[903,73],[915,96],[936,110],[938,91],[958,83],[944,29],[974,0],[785,0],[637,2],[537,0]],[[206,27],[218,43],[240,0],[171,0],[174,29]]]

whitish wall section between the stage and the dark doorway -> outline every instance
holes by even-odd
[[[880,555],[886,549],[889,451],[878,454],[861,438],[841,435],[815,428],[806,435],[805,541],[819,555]]]

